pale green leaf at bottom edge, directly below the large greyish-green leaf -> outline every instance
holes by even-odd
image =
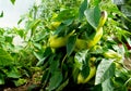
[[[102,83],[103,91],[114,91],[111,79],[107,79]]]

